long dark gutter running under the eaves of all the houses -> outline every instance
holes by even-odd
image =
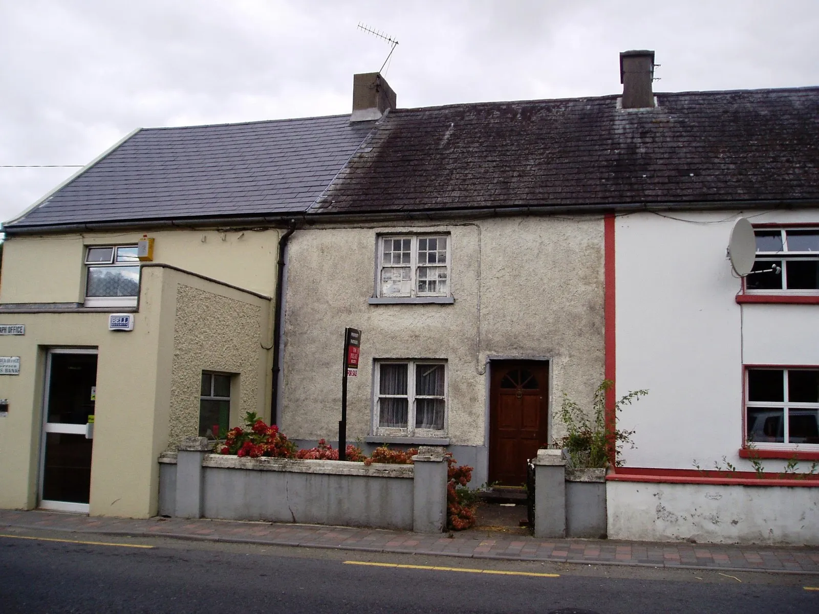
[[[7,235],[69,233],[84,231],[119,230],[123,228],[219,228],[219,227],[250,227],[253,226],[282,226],[287,221],[292,222],[294,216],[303,223],[333,222],[373,222],[380,219],[446,219],[446,218],[476,218],[501,217],[506,215],[556,215],[556,214],[601,214],[633,213],[636,211],[686,211],[686,210],[728,210],[728,209],[779,209],[812,207],[817,205],[817,199],[771,199],[765,201],[663,201],[663,202],[631,202],[605,203],[601,205],[527,205],[514,207],[467,207],[436,210],[373,210],[362,213],[333,213],[311,209],[310,213],[289,212],[280,215],[259,215],[249,217],[205,217],[188,219],[143,219],[141,221],[110,221],[72,224],[42,224],[37,226],[11,226],[2,228]]]

